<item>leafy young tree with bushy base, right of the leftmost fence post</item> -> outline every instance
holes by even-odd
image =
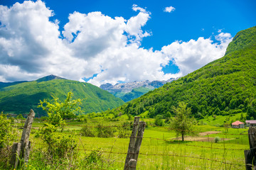
[[[73,93],[69,92],[64,102],[59,101],[58,98],[53,97],[52,102],[44,99],[40,101],[38,108],[43,108],[48,114],[48,123],[45,123],[38,132],[38,137],[46,142],[47,154],[52,158],[50,161],[57,159],[74,159],[77,156],[77,142],[72,135],[60,136],[54,132],[65,125],[65,119],[73,118],[75,113],[80,112],[81,100],[72,100]],[[62,162],[60,160],[60,162]]]

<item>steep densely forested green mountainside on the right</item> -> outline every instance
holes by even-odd
[[[256,118],[256,27],[240,31],[225,56],[201,69],[129,101],[111,112],[132,115],[171,115],[184,101],[200,119],[208,115],[247,113]]]

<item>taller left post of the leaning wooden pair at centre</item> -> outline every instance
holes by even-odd
[[[129,160],[132,159],[132,154],[134,152],[138,127],[139,127],[139,117],[135,116],[134,124],[132,127],[132,135],[130,137],[129,147],[128,147],[128,151],[127,151],[127,157],[125,159],[124,170],[129,169],[128,163],[129,163]]]

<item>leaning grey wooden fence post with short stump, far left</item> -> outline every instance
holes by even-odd
[[[18,160],[23,159],[24,163],[28,162],[29,152],[31,149],[31,142],[29,141],[29,135],[32,128],[33,118],[35,118],[35,113],[31,109],[28,118],[24,124],[23,132],[21,135],[21,142],[14,143],[11,152],[11,165],[14,169],[18,166]]]

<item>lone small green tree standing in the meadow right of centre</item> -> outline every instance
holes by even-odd
[[[181,135],[182,141],[184,141],[185,135],[197,135],[195,130],[194,119],[191,118],[191,108],[187,108],[186,103],[178,103],[178,107],[172,108],[176,116],[171,121],[171,129],[176,132],[177,137]]]

